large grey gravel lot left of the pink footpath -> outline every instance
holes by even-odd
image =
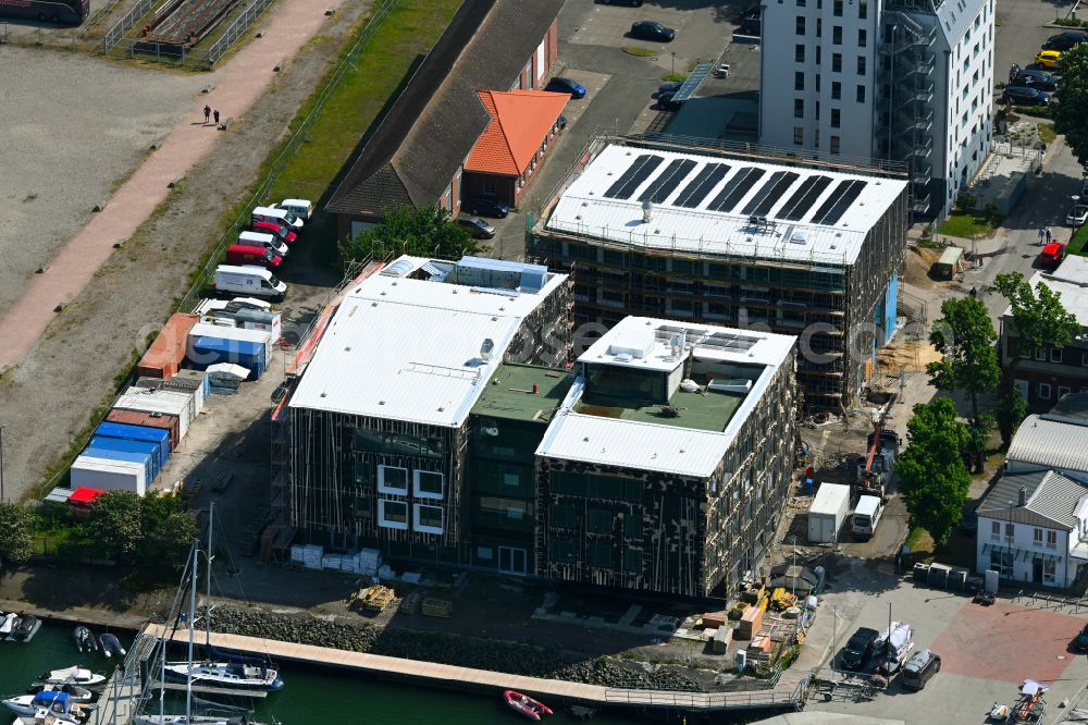
[[[75,53],[0,47],[0,309],[203,86]]]

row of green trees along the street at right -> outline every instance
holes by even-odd
[[[994,288],[1011,308],[1012,334],[1006,339],[1014,368],[1022,355],[1044,345],[1064,347],[1080,330],[1076,317],[1062,306],[1061,295],[1046,284],[1033,288],[1023,274],[1013,272],[999,274]],[[937,390],[966,397],[970,418],[962,422],[949,397],[916,405],[907,423],[908,445],[895,464],[911,524],[929,531],[938,544],[960,523],[967,501],[970,474],[965,454],[980,471],[994,430],[1007,445],[1027,410],[1014,386],[1000,397],[993,413],[981,408],[982,398],[1001,383],[997,340],[986,305],[974,294],[941,304],[941,319],[929,341],[942,357],[926,371]]]

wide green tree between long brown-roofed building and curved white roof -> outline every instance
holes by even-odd
[[[384,214],[382,223],[341,245],[345,261],[371,255],[384,258],[388,254],[460,259],[479,251],[480,245],[465,228],[452,221],[449,211],[437,205],[421,209],[398,205]]]

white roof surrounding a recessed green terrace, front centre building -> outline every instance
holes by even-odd
[[[673,357],[671,351],[677,335],[682,343],[679,358]],[[738,341],[740,346],[726,346]],[[770,379],[789,359],[795,344],[796,337],[792,335],[645,317],[623,318],[590,346],[578,358],[579,362],[667,371],[692,355],[696,359],[757,365],[764,369],[721,431],[574,413],[585,390],[584,380],[579,378],[548,426],[536,455],[708,477],[728,452],[744,420],[759,404]],[[632,355],[632,351],[639,348],[645,351],[642,358]],[[627,359],[627,355],[632,357]]]

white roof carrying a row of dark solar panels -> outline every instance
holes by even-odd
[[[660,160],[644,179],[632,177],[644,156]],[[623,179],[631,184],[617,189]],[[727,187],[734,194],[719,199]],[[609,145],[562,192],[545,229],[669,251],[850,265],[905,187],[897,179]],[[644,197],[656,199],[648,223]],[[833,199],[843,200],[839,210],[827,204]]]

